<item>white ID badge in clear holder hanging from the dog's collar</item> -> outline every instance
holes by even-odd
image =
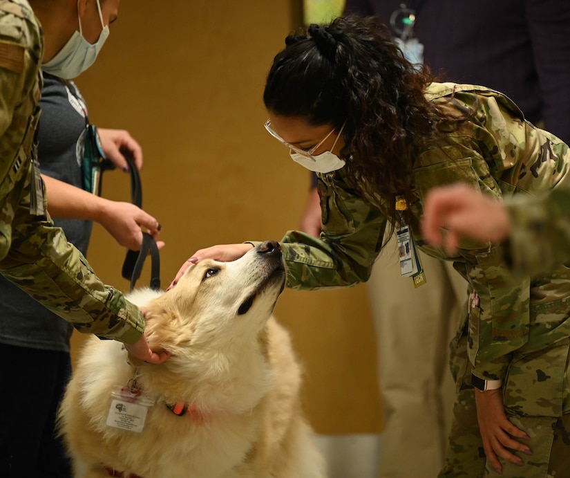
[[[154,400],[145,396],[141,389],[115,387],[111,392],[113,400],[109,407],[106,424],[129,432],[140,433],[144,429],[146,414]]]

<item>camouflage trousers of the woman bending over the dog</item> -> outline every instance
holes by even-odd
[[[533,454],[515,452],[524,466],[499,458],[499,475],[486,463],[479,434],[466,335],[454,341],[450,366],[456,399],[446,464],[439,477],[570,477],[569,351],[570,338],[565,338],[540,351],[513,358],[503,387],[503,403],[511,423],[531,437],[524,443]]]

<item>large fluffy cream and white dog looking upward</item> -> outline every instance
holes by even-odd
[[[201,261],[166,293],[135,291],[161,365],[91,338],[59,412],[75,477],[324,477],[301,414],[301,369],[270,317],[285,284],[278,243]]]

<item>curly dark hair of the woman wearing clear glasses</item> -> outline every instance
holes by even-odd
[[[397,223],[395,196],[414,201],[414,146],[441,138],[472,112],[449,116],[426,100],[424,89],[435,78],[403,57],[377,18],[311,25],[285,43],[267,75],[265,107],[314,126],[346,122],[341,154],[352,186]]]

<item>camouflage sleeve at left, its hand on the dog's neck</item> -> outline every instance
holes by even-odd
[[[95,275],[82,253],[49,219],[29,215],[29,178],[12,222],[12,246],[0,273],[82,333],[134,343],[141,311]]]

